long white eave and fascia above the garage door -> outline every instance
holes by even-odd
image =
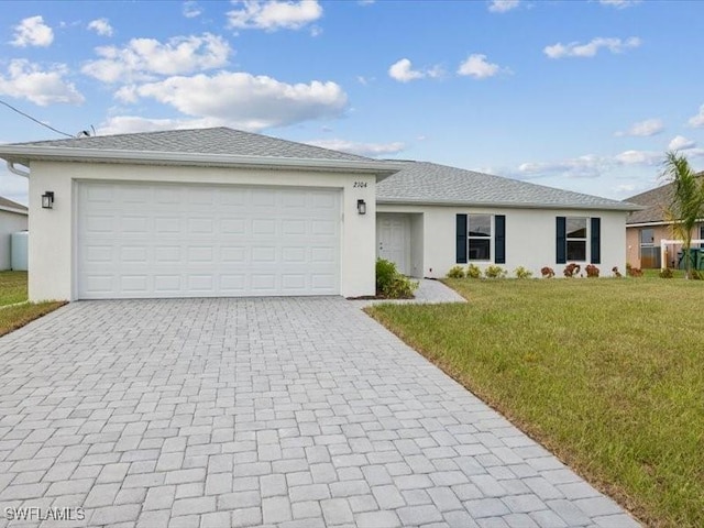
[[[61,148],[55,146],[1,145],[0,157],[30,166],[32,161],[79,163],[134,163],[141,165],[193,165],[215,167],[308,169],[337,173],[373,174],[382,180],[403,168],[403,164],[370,160],[322,160],[268,156],[238,156],[182,152],[151,152],[95,148]]]

